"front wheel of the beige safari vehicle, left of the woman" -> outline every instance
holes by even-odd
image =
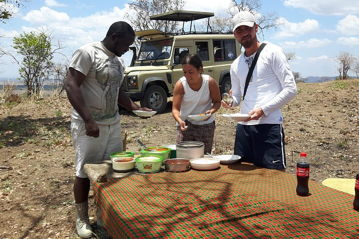
[[[167,94],[161,86],[151,86],[146,90],[145,97],[140,101],[141,107],[147,107],[162,113],[167,106]]]

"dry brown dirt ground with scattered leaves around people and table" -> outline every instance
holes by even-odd
[[[310,160],[311,180],[355,178],[359,170],[358,98],[358,80],[298,84],[297,97],[282,108],[287,173],[295,174],[299,152],[304,151]],[[120,112],[128,133],[127,149],[139,152],[137,137],[148,146],[174,144],[171,108],[169,101],[167,110],[151,119]],[[66,98],[1,103],[0,239],[77,238],[70,111]],[[213,155],[232,153],[236,123],[221,114],[237,111],[221,108],[216,113]],[[96,229],[92,190],[89,205],[97,237],[108,239],[106,232]]]

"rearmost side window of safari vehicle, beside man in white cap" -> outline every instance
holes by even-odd
[[[213,40],[214,61],[232,61],[237,58],[235,39]]]

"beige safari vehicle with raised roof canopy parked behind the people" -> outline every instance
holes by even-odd
[[[176,82],[183,76],[182,59],[188,53],[196,53],[202,59],[203,73],[218,83],[220,92],[231,88],[229,70],[240,54],[240,44],[232,32],[208,31],[212,12],[171,11],[150,16],[152,20],[190,21],[189,32],[163,32],[155,29],[136,31],[142,39],[137,56],[125,70],[122,87],[133,101],[162,113],[167,98],[173,96]],[[192,21],[208,18],[206,32],[191,31]]]

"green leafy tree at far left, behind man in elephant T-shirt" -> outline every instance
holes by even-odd
[[[19,75],[26,86],[26,96],[38,96],[43,83],[47,80],[53,69],[53,54],[57,50],[63,49],[60,42],[52,49],[52,32],[47,30],[36,30],[29,33],[23,33],[13,38],[13,48],[17,55],[9,52],[1,52],[1,55],[12,57],[15,63],[20,67]],[[22,56],[21,61],[16,57]]]

